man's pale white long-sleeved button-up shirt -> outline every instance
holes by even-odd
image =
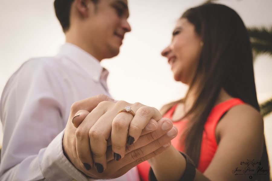
[[[108,71],[93,56],[66,43],[55,57],[25,62],[1,97],[0,180],[88,180],[63,155],[63,130],[73,102],[109,95]],[[138,181],[134,167],[112,180]]]

